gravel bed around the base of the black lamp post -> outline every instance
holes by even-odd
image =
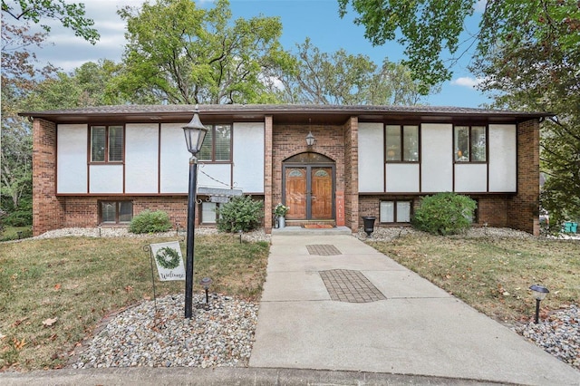
[[[113,317],[69,366],[219,367],[247,366],[257,323],[256,304],[211,294],[194,296],[191,319],[184,295],[143,302]]]

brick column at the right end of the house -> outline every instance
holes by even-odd
[[[540,130],[537,120],[517,125],[517,195],[508,206],[508,227],[538,236],[540,194]]]

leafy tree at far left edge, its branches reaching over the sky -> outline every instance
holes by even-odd
[[[15,24],[8,23],[6,18]],[[39,68],[31,45],[42,46],[50,27],[32,34],[31,24],[57,19],[91,43],[99,38],[92,20],[84,17],[84,5],[63,0],[2,0],[2,131],[0,198],[2,207],[17,211],[32,197],[32,136],[28,121],[18,117],[39,81],[55,72],[48,64]],[[27,209],[30,210],[30,209]]]

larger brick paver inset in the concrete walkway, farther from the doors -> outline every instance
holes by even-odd
[[[385,300],[381,291],[361,271],[332,269],[320,271],[330,298],[337,302],[370,303]]]

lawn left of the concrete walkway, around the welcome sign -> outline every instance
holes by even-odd
[[[57,369],[102,318],[152,299],[150,255],[143,246],[167,238],[63,237],[5,243],[0,248],[0,369]],[[185,245],[181,243],[185,256]],[[257,301],[266,280],[268,245],[230,235],[196,236],[194,293]],[[156,291],[182,293],[184,282]],[[52,323],[51,323],[52,322]],[[49,325],[46,325],[49,324]]]

